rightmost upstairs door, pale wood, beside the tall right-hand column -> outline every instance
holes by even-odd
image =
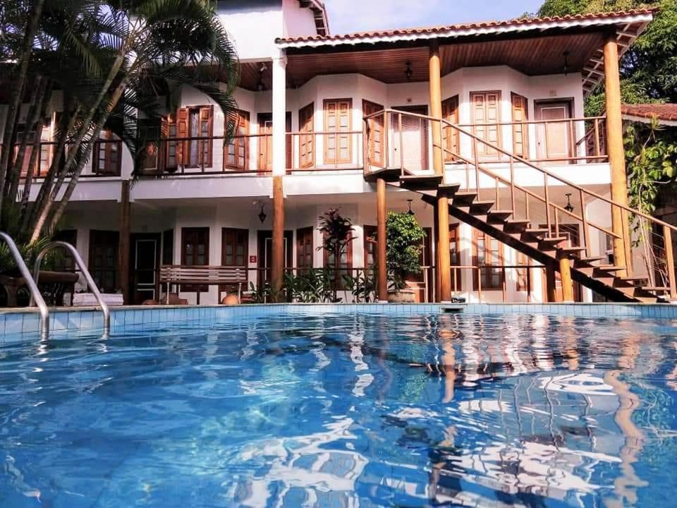
[[[557,121],[571,118],[571,102],[542,102],[535,104],[538,158],[567,160],[571,157],[571,131],[569,123]],[[554,121],[552,123],[547,123]]]

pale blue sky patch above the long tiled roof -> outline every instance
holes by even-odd
[[[324,0],[333,34],[516,18],[543,0]]]

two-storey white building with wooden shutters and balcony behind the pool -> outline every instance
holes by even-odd
[[[224,114],[185,89],[181,108],[167,111],[171,135],[209,139],[161,144],[160,157],[130,186],[129,243],[120,233],[121,200],[133,164],[121,142],[99,144],[68,205],[61,235],[105,291],[125,289],[128,303],[157,299],[164,292],[160,265],[239,266],[247,269],[243,282],[261,284],[274,269],[274,243],[283,246],[285,268],[322,267],[318,216],[332,207],[355,224],[344,266],[369,268],[376,252],[374,174],[389,183],[400,175],[434,176],[436,157],[444,159],[444,183],[494,201],[492,210],[510,210],[513,219],[528,219],[529,229],[585,246],[588,256],[611,253],[611,205],[596,197],[611,197],[606,120],[585,119],[583,101],[604,79],[604,48],[622,54],[652,11],[355,35],[329,35],[319,0],[222,0],[219,16],[242,66],[236,138],[224,145]],[[430,66],[437,54],[441,104]],[[440,107],[449,122],[441,128],[442,149],[434,143],[440,123],[429,118],[439,118]],[[365,119],[370,114],[377,115]],[[282,191],[277,202],[283,198],[277,211],[274,180]],[[386,206],[410,204],[428,232],[427,268],[410,285],[418,301],[430,301],[441,285],[434,270],[439,235],[434,206],[421,197],[391,185]],[[274,242],[281,210],[283,234]],[[450,222],[452,296],[546,300],[543,260],[485,239],[468,221]],[[120,245],[130,246],[128,270]],[[220,301],[226,289],[202,289],[200,303]],[[593,293],[575,284],[574,296],[591,301]],[[181,297],[195,303],[197,291],[183,286]]]

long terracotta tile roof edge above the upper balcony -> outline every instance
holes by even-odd
[[[657,8],[642,8],[630,9],[628,11],[616,11],[596,14],[576,14],[574,16],[551,16],[544,18],[515,18],[504,21],[485,21],[480,23],[460,23],[457,25],[441,25],[437,27],[427,28],[396,28],[393,30],[372,30],[370,32],[355,32],[345,35],[307,35],[303,37],[286,37],[276,40],[278,43],[289,42],[358,42],[360,39],[370,39],[374,37],[394,37],[397,35],[453,35],[453,32],[463,32],[464,30],[477,29],[500,29],[500,28],[530,28],[533,26],[539,29],[539,25],[547,23],[561,23],[561,22],[576,22],[576,21],[595,21],[595,20],[609,20],[613,18],[625,18],[628,16],[641,16],[645,14],[652,14],[657,11]]]

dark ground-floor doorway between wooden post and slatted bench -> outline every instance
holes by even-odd
[[[160,260],[159,234],[133,234],[131,236],[130,273],[132,301],[140,305],[146,300],[159,298],[157,267]]]

